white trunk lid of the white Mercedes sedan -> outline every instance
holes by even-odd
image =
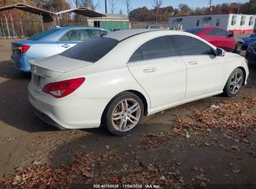
[[[42,60],[31,60],[31,81],[33,89],[42,91],[45,85],[53,83],[60,75],[77,68],[85,67],[91,62],[54,55]]]

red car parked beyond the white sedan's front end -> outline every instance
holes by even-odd
[[[219,27],[194,27],[187,29],[185,32],[197,35],[212,45],[223,48],[227,52],[240,54],[242,51],[242,39],[235,39],[234,34]]]

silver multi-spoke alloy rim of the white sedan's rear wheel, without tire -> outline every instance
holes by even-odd
[[[111,115],[113,126],[118,131],[129,131],[138,124],[141,116],[140,104],[135,99],[123,99]]]

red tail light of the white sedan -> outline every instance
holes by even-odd
[[[83,84],[85,78],[75,78],[72,80],[58,81],[55,83],[49,83],[44,86],[43,92],[48,93],[55,98],[62,98],[64,96],[73,93],[79,86]]]

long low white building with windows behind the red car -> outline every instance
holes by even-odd
[[[189,29],[191,27],[220,27],[236,33],[254,32],[255,15],[210,14],[169,17],[170,29]]]

